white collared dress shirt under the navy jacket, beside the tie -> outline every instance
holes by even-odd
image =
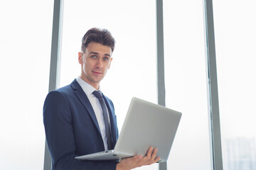
[[[106,128],[105,128],[102,107],[100,105],[100,101],[92,94],[92,92],[95,91],[96,89],[90,84],[87,84],[87,82],[82,80],[80,77],[77,78],[77,81],[78,81],[78,84],[82,87],[82,90],[85,91],[85,94],[89,98],[89,101],[92,105],[93,111],[95,111],[97,122],[99,124],[100,132],[102,135],[102,140],[104,142],[104,147],[105,147],[105,150],[107,150],[107,135],[105,130]]]

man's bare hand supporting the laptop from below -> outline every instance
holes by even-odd
[[[149,147],[145,157],[135,155],[132,158],[122,159],[116,167],[116,170],[130,170],[144,165],[150,165],[158,162],[161,158],[156,157],[157,149]]]

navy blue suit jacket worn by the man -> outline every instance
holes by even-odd
[[[110,113],[113,146],[117,142],[117,120],[112,101],[103,95]],[[50,91],[43,106],[46,140],[53,170],[114,170],[117,162],[80,161],[76,156],[104,151],[97,118],[78,81]]]

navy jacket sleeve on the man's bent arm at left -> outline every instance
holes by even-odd
[[[43,106],[46,141],[53,170],[114,170],[117,162],[93,162],[77,156],[73,120],[68,101],[59,91],[51,91]]]

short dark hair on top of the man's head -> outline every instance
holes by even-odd
[[[91,28],[90,30],[87,30],[85,35],[82,37],[82,52],[85,52],[85,49],[90,42],[97,42],[102,45],[109,46],[111,47],[112,52],[114,51],[115,40],[107,29]]]

